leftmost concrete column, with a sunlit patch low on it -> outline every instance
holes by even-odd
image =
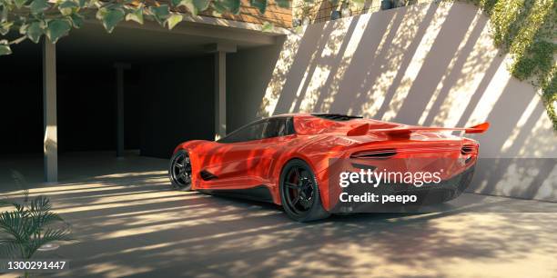
[[[58,181],[58,132],[56,121],[56,45],[43,40],[43,121],[46,182]]]

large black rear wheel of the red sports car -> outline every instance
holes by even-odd
[[[315,174],[300,159],[290,160],[280,174],[280,200],[284,211],[298,222],[309,222],[329,217],[321,204]]]

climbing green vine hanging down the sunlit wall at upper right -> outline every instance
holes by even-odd
[[[530,81],[557,131],[557,4],[554,0],[469,0],[490,17],[491,37],[511,55],[512,76]]]

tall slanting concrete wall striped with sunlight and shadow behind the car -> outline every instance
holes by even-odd
[[[411,5],[309,25],[279,52],[238,53],[228,73],[240,84],[228,94],[243,112],[228,114],[228,123],[289,112],[439,126],[489,121],[491,130],[475,136],[482,160],[471,191],[557,201],[557,136],[532,85],[508,73],[508,59],[473,5]],[[270,76],[249,78],[268,66]]]

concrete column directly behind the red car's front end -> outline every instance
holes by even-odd
[[[227,53],[215,53],[215,140],[227,134]]]

